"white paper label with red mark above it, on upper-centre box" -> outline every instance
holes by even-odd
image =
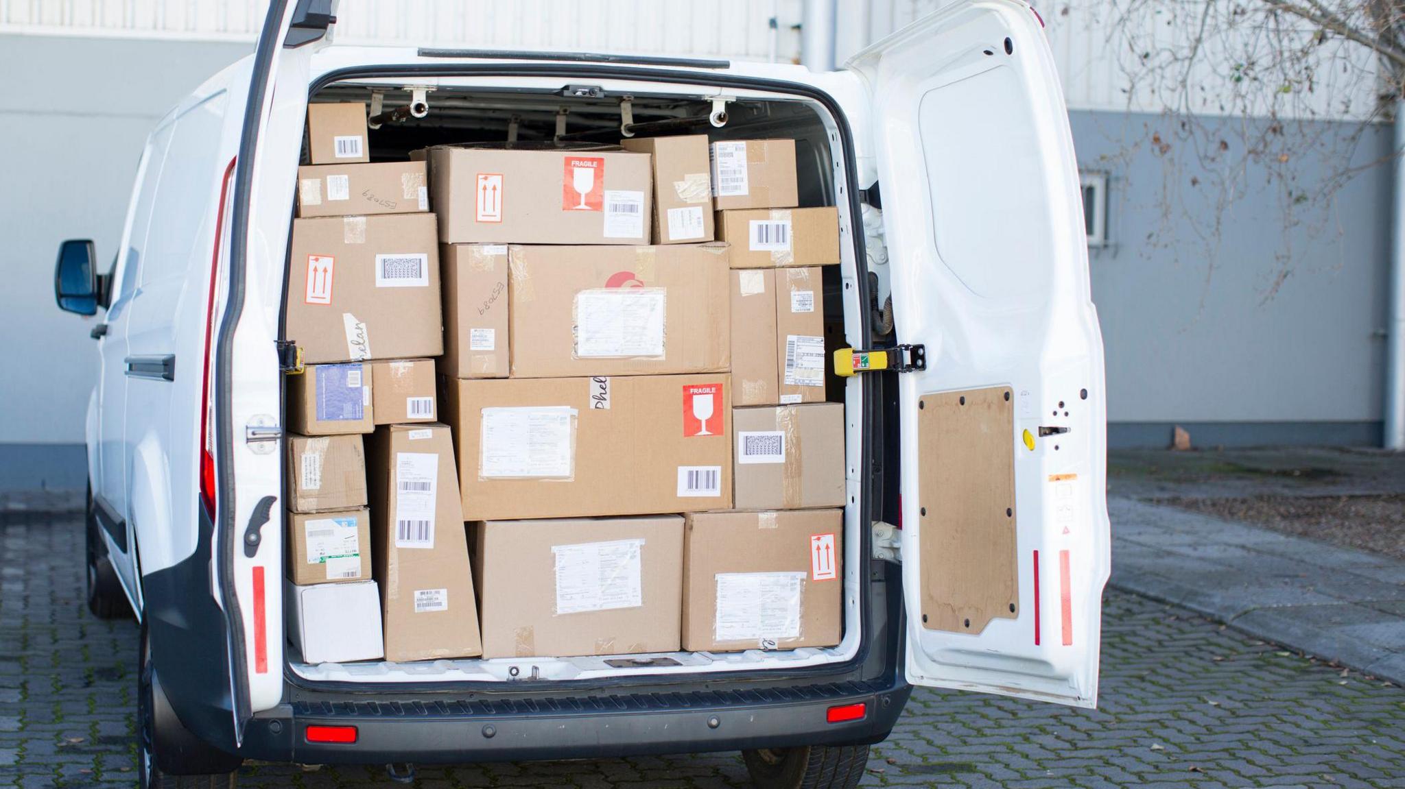
[[[576,293],[576,357],[662,357],[663,288],[593,288]]]

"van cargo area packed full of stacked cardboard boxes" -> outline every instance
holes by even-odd
[[[856,658],[873,420],[829,359],[882,319],[842,121],[783,93],[548,81],[311,100],[284,517],[288,583],[320,585],[287,595],[292,674]]]

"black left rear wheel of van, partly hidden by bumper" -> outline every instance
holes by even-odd
[[[180,724],[162,685],[152,670],[150,637],[142,625],[142,646],[136,671],[136,782],[140,789],[235,789],[239,774],[237,757],[232,757],[201,743]],[[160,729],[160,730],[157,730]],[[178,731],[173,731],[178,729]],[[178,743],[180,747],[167,747]],[[167,751],[178,751],[171,754]],[[160,754],[160,758],[157,758]],[[162,768],[169,757],[176,757],[183,767],[202,769],[200,775],[171,775]],[[167,765],[170,767],[170,765]],[[209,772],[218,769],[219,772]]]

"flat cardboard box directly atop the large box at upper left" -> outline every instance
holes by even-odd
[[[365,216],[430,209],[423,161],[298,167],[298,216]]]

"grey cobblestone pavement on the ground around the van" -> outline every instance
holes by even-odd
[[[81,599],[81,522],[0,526],[0,786],[131,786],[136,628]],[[1102,709],[919,691],[865,786],[1405,786],[1405,691],[1110,591]],[[735,754],[422,769],[420,786],[746,786]],[[240,786],[392,786],[249,765]]]

